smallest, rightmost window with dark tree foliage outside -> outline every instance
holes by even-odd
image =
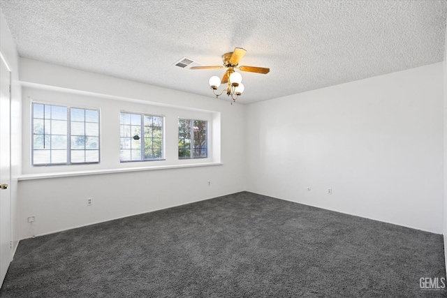
[[[208,156],[207,126],[207,121],[179,119],[180,159],[206,158]]]

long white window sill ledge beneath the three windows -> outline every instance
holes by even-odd
[[[45,174],[23,174],[23,175],[20,175],[17,179],[19,181],[24,181],[24,180],[59,178],[59,177],[88,176],[88,175],[96,175],[96,174],[113,174],[113,173],[125,173],[125,172],[167,170],[167,169],[178,169],[178,168],[182,168],[182,167],[208,167],[211,165],[222,165],[222,164],[223,163],[191,163],[189,165],[158,165],[158,166],[152,166],[152,167],[123,167],[122,169],[58,172],[58,173],[45,173]]]

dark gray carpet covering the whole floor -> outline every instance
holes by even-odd
[[[20,241],[1,297],[444,297],[440,234],[236,193]]]

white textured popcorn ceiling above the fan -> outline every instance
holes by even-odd
[[[0,0],[0,8],[22,57],[210,98],[208,79],[223,69],[173,64],[221,65],[221,54],[244,47],[240,65],[270,73],[242,73],[239,103],[443,61],[447,15],[446,0]]]

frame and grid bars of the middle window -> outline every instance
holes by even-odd
[[[131,124],[122,124],[121,122],[121,115],[122,114],[133,114],[133,115],[139,115],[140,116],[140,128],[141,128],[141,133],[140,133],[140,142],[141,142],[141,147],[140,147],[140,159],[135,159],[135,160],[122,160],[121,159],[121,139],[122,139],[122,135],[121,135],[121,128],[123,125],[126,126],[131,126]],[[160,158],[148,158],[145,159],[145,135],[144,135],[144,128],[145,128],[145,116],[146,117],[160,117],[161,118],[161,157]],[[154,126],[152,126],[154,127]],[[154,137],[151,137],[152,139],[154,139]],[[163,114],[149,114],[149,113],[145,113],[145,112],[130,112],[127,110],[121,110],[119,111],[119,163],[140,163],[140,162],[146,162],[146,161],[166,161],[166,116]],[[153,147],[152,147],[153,148]],[[131,153],[132,154],[132,153]],[[132,158],[132,156],[131,156]]]

